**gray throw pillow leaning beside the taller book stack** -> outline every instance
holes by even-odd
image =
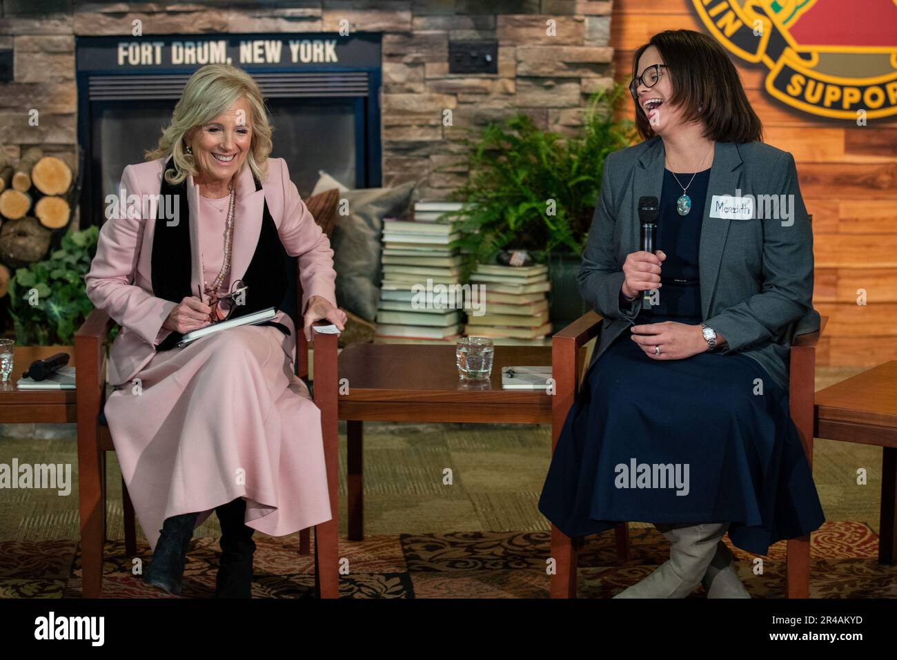
[[[340,193],[331,243],[336,269],[336,302],[374,321],[380,295],[380,254],[384,217],[405,217],[414,182],[396,188],[366,188]],[[348,215],[343,216],[348,200]]]

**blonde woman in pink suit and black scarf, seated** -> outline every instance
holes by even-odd
[[[314,321],[343,330],[346,317],[327,236],[271,148],[252,78],[197,70],[148,162],[125,168],[86,277],[121,326],[105,413],[153,550],[144,581],[172,594],[213,510],[218,597],[250,596],[254,530],[283,536],[332,517],[320,413],[293,373],[296,329],[281,311],[287,254],[299,258],[306,338]],[[273,321],[177,347],[190,330],[272,306]]]

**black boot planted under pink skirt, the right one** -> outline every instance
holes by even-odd
[[[215,598],[252,598],[252,554],[255,532],[243,523],[246,500],[242,497],[215,508],[222,524],[222,558],[215,578]]]

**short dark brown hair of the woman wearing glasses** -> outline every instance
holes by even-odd
[[[632,78],[639,75],[639,59],[646,48],[654,46],[664,58],[666,71],[673,85],[671,103],[683,108],[683,119],[704,123],[704,136],[717,142],[762,141],[762,123],[747,101],[735,65],[716,40],[693,30],[658,32],[648,43],[635,51]],[[653,137],[654,129],[635,102],[635,126],[644,139]],[[703,106],[698,110],[698,106]]]

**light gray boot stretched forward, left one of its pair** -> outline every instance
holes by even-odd
[[[717,544],[726,534],[728,523],[696,525],[655,524],[670,543],[667,559],[640,583],[624,589],[614,598],[684,598],[701,584]]]

